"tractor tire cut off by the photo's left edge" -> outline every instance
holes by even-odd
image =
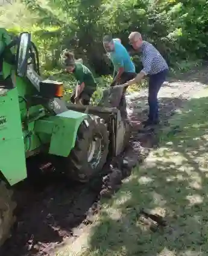
[[[13,216],[16,203],[12,200],[13,191],[0,181],[0,246],[10,237],[10,229],[15,222]]]

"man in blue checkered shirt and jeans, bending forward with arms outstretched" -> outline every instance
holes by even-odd
[[[157,94],[165,82],[166,75],[168,73],[168,64],[162,55],[154,48],[151,43],[142,40],[142,36],[139,32],[132,32],[128,37],[130,44],[134,50],[142,53],[142,71],[137,74],[133,79],[125,83],[125,85],[133,85],[140,83],[142,78],[148,75],[149,77],[149,89],[148,89],[148,104],[150,107],[148,120],[144,121],[144,126],[151,126],[159,123],[159,107],[157,102]]]

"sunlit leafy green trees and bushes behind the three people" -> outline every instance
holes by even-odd
[[[14,34],[31,31],[44,74],[60,69],[65,48],[82,58],[95,76],[112,74],[102,46],[105,33],[119,37],[131,50],[128,34],[140,31],[165,56],[171,71],[186,71],[208,55],[207,0],[17,0],[0,8],[0,21]],[[139,72],[140,57],[133,60]],[[59,78],[66,80],[71,92],[73,78]],[[109,79],[99,78],[99,88],[106,88]]]

